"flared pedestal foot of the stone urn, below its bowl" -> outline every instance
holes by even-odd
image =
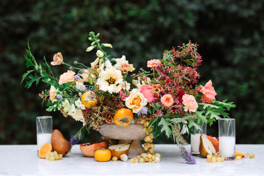
[[[132,140],[119,140],[119,144],[123,144],[125,142],[131,142]],[[144,148],[142,147],[140,140],[133,140],[132,144],[130,145],[128,158],[134,158],[138,155],[145,153]]]

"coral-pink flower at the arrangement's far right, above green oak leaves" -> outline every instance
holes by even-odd
[[[205,84],[205,86],[200,85],[202,92],[202,95],[204,98],[202,98],[202,102],[212,101],[215,100],[215,96],[217,95],[214,87],[212,86],[211,79]]]

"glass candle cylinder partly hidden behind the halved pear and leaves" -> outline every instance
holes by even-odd
[[[191,155],[193,156],[201,156],[199,152],[200,136],[201,134],[206,135],[206,123],[202,123],[200,121],[199,125],[201,126],[201,130],[196,130],[196,128],[194,127],[192,129],[194,135],[191,134]]]

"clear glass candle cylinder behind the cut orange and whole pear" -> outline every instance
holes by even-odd
[[[37,151],[46,143],[51,144],[52,134],[52,117],[39,116],[36,117],[37,121]]]

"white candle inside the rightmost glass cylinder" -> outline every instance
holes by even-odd
[[[223,157],[231,157],[235,155],[235,137],[221,136],[219,137],[219,151]]]

